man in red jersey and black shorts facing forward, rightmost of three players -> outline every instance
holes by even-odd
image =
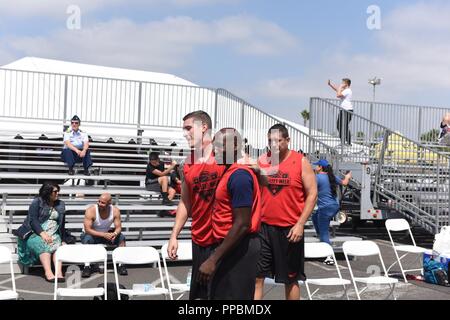
[[[258,160],[268,175],[262,191],[261,254],[255,300],[262,299],[265,278],[285,284],[288,300],[300,299],[304,274],[304,226],[317,200],[317,184],[309,161],[289,150],[289,132],[282,124],[268,133],[271,151]]]

